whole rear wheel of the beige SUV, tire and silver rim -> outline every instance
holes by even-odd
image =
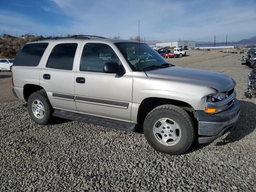
[[[34,92],[28,97],[28,113],[37,124],[48,124],[52,112],[53,109],[45,91]]]

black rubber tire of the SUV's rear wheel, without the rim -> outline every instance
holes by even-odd
[[[44,116],[41,119],[37,118],[33,113],[32,104],[33,104],[34,100],[39,100],[40,102],[42,102],[42,104],[44,106]],[[50,101],[49,101],[47,94],[44,90],[40,90],[40,91],[32,93],[28,97],[27,106],[28,106],[28,113],[34,122],[36,122],[37,124],[40,124],[40,125],[46,125],[50,122],[50,120],[52,118],[53,108],[52,108],[52,105],[50,104]]]

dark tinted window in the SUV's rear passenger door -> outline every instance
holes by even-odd
[[[47,68],[72,70],[77,43],[58,44],[53,49],[46,64]]]

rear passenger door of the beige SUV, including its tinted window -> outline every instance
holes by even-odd
[[[82,41],[55,41],[40,71],[40,85],[45,88],[54,108],[77,111],[74,78]]]

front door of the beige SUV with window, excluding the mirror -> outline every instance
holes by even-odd
[[[75,76],[78,112],[130,122],[132,72],[123,75],[103,72],[106,62],[118,62],[122,65],[113,50],[117,48],[113,44],[96,42],[84,42],[82,47],[80,66]]]

